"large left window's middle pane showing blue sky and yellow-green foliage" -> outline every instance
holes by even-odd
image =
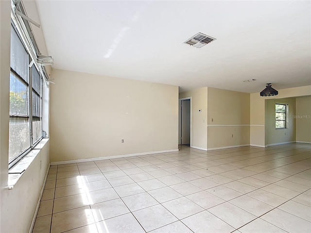
[[[28,88],[13,73],[10,74],[10,115],[28,116]]]

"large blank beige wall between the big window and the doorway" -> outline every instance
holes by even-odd
[[[178,86],[58,69],[52,77],[52,162],[178,149]]]

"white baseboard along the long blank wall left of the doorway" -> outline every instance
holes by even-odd
[[[159,151],[142,152],[142,153],[134,153],[134,154],[122,154],[122,155],[88,158],[88,159],[74,159],[74,160],[67,160],[67,161],[51,162],[51,165],[82,163],[82,162],[98,161],[98,160],[104,160],[104,159],[117,159],[117,158],[124,158],[124,157],[138,156],[138,155],[158,154],[158,153],[175,152],[175,151],[179,151],[179,149],[159,150]]]

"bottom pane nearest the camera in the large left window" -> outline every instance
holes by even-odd
[[[30,147],[28,118],[10,117],[9,124],[9,161],[21,151]]]

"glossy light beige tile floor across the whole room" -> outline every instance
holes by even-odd
[[[51,166],[33,233],[310,233],[311,145]]]

